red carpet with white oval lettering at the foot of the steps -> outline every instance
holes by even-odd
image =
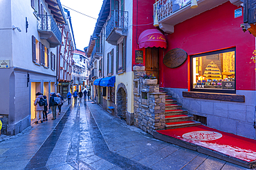
[[[229,134],[217,129],[205,127],[183,127],[157,131],[160,134],[171,136],[179,140],[193,143],[219,151],[228,156],[251,162],[256,160],[256,140]]]

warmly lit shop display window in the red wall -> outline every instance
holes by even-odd
[[[192,91],[235,93],[235,48],[191,58]]]

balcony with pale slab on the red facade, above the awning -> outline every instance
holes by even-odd
[[[227,1],[228,0],[197,0],[198,7],[192,9],[190,8],[191,1],[188,0],[181,4],[179,4],[179,2],[182,1],[159,0],[154,3],[154,14],[156,14],[157,9],[159,28],[171,34],[174,32],[174,25],[219,6],[222,3],[226,3]]]

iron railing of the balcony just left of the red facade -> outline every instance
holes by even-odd
[[[128,30],[128,12],[122,10],[111,10],[111,18],[107,22],[106,37],[114,28],[122,29],[123,34]]]

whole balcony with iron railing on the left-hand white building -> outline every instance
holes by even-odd
[[[40,33],[40,39],[46,39],[50,43],[50,47],[61,45],[62,33],[51,15],[39,14],[37,31]]]

